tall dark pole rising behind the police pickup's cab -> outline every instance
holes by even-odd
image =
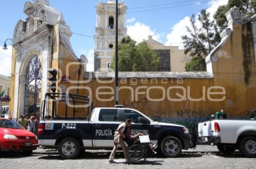
[[[118,105],[118,0],[116,0],[115,105]]]

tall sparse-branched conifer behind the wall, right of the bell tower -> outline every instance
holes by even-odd
[[[182,36],[185,54],[189,53],[192,57],[191,61],[186,64],[186,71],[206,71],[204,58],[221,40],[219,28],[217,28],[214,20],[209,19],[210,13],[203,9],[197,17],[200,28],[196,26],[195,15],[193,14],[190,18],[191,27],[186,26],[189,34]]]

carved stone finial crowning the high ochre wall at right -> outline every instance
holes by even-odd
[[[234,6],[226,13],[226,18],[228,20],[228,25],[242,23],[242,10],[239,10],[238,7]]]

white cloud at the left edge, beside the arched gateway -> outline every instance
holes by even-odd
[[[7,46],[7,50],[0,46],[0,74],[5,76],[11,76],[11,55],[12,46]]]

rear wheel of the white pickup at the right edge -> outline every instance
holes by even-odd
[[[256,157],[256,138],[247,136],[239,143],[240,152],[246,157]]]

